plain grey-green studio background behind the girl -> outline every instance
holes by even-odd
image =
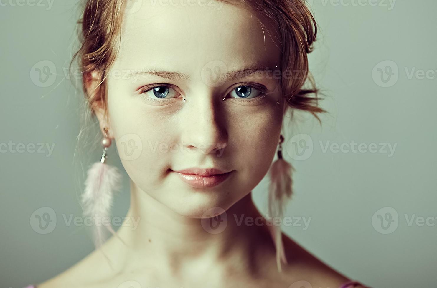
[[[73,155],[82,95],[65,76],[78,14],[73,0],[55,1],[50,9],[45,1],[44,6],[2,3],[7,5],[0,6],[0,143],[55,145],[50,156],[47,148],[42,153],[14,153],[9,148],[0,153],[0,286],[21,288],[59,274],[93,249],[85,227],[68,226],[62,218],[81,214],[82,168]],[[297,115],[287,128],[287,140],[305,134],[287,143],[285,157],[296,169],[295,196],[287,215],[311,221],[306,230],[288,226],[284,231],[364,284],[436,287],[437,196],[432,175],[437,3],[397,1],[392,9],[388,0],[362,0],[364,6],[352,5],[358,0],[336,3],[312,1],[319,37],[310,68],[326,95],[323,108],[330,113],[323,116],[322,127],[308,115]],[[55,65],[55,74],[48,80],[52,85],[40,87],[49,82],[38,82],[35,68],[45,65],[33,66],[45,60]],[[394,75],[390,87],[381,87],[378,68],[388,71],[386,63],[379,64],[386,60],[395,63]],[[434,73],[411,78],[413,68]],[[98,134],[95,125],[93,131]],[[388,152],[322,149],[326,143],[351,141],[376,143],[378,149],[380,144],[397,146],[392,156],[387,147]],[[302,150],[302,143],[307,149]],[[96,147],[87,149],[88,159],[76,157],[85,159],[83,167],[100,157]],[[298,154],[291,153],[296,147]],[[114,147],[110,152],[115,156]],[[111,157],[111,163],[122,168],[118,157]],[[264,179],[253,192],[263,211],[267,184]],[[114,215],[124,216],[128,209],[126,174],[124,191],[115,199]],[[38,210],[42,207],[49,208]],[[52,232],[41,234],[31,222],[35,211],[55,213]],[[394,222],[384,229],[378,215],[391,215]],[[434,220],[429,225],[407,221],[420,216]]]

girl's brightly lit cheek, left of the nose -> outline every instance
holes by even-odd
[[[139,99],[119,95],[123,94],[108,95],[118,156],[126,173],[141,188],[157,186],[174,154],[171,143],[175,140],[171,137],[177,135],[175,125],[169,117],[145,109]]]

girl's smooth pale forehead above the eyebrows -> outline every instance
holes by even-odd
[[[241,5],[216,0],[135,3],[141,5],[125,10],[120,51],[114,64],[132,69],[149,64],[187,71],[201,69],[214,60],[235,67],[272,65],[279,60],[274,26]]]

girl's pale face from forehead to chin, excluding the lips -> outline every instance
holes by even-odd
[[[140,2],[126,10],[107,78],[107,125],[121,162],[138,190],[180,215],[227,210],[261,181],[277,148],[284,103],[272,73],[280,69],[275,29],[228,3]],[[232,172],[196,188],[174,172],[192,167]]]

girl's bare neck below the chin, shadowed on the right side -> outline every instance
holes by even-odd
[[[256,264],[257,258],[271,255],[274,248],[265,219],[255,207],[251,193],[225,214],[225,222],[212,219],[201,222],[198,218],[181,216],[131,182],[131,206],[125,223],[117,231],[125,244],[112,237],[105,251],[116,254],[116,262],[123,270],[152,266],[173,277],[191,274],[187,271],[191,268],[197,274],[203,268],[210,273],[212,267],[222,272],[257,273],[261,269]],[[217,231],[221,232],[205,229],[205,223],[211,223],[207,227],[219,225]]]

